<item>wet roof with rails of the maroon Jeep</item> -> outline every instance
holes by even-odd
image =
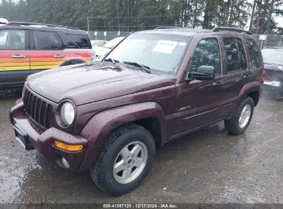
[[[217,30],[216,30],[217,29]],[[244,30],[240,30],[237,28],[227,28],[227,27],[219,27],[213,28],[213,30],[207,30],[207,29],[193,29],[193,28],[178,28],[178,27],[159,27],[154,30],[145,30],[140,31],[136,33],[154,33],[154,34],[169,34],[169,35],[178,35],[178,36],[194,36],[196,34],[200,33],[224,33],[224,34],[242,34],[242,35],[249,35],[249,32],[246,32]]]

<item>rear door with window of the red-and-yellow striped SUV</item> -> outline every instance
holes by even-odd
[[[63,44],[55,32],[32,31],[30,51],[30,71],[60,67],[70,61],[70,55],[63,50]]]

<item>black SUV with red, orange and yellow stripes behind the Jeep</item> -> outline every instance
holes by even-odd
[[[83,30],[41,23],[1,25],[0,96],[7,89],[21,89],[30,74],[94,58]]]

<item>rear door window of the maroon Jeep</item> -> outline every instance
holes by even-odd
[[[247,60],[244,54],[244,46],[241,39],[224,39],[228,72],[247,69]]]

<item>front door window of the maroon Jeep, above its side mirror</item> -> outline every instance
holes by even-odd
[[[221,74],[220,52],[216,39],[202,39],[196,45],[189,72],[196,72],[201,65],[212,66],[217,75]]]

